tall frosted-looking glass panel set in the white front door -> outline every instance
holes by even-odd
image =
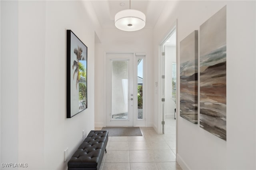
[[[112,119],[128,119],[128,61],[112,61]]]

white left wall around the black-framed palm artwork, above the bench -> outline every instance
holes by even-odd
[[[88,9],[89,10],[88,10]],[[94,33],[86,1],[1,1],[1,163],[67,169],[94,129]],[[88,47],[88,109],[66,119],[66,30]]]

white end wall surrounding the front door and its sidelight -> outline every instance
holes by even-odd
[[[101,43],[96,45],[95,54],[95,127],[106,126],[106,52],[144,52],[147,53],[146,62],[148,62],[148,69],[146,77],[148,79],[148,107],[146,108],[147,125],[152,126],[152,112],[153,110],[153,94],[152,87],[153,81],[153,32],[150,29],[143,29],[136,32],[124,32],[117,28],[104,28],[102,29]]]

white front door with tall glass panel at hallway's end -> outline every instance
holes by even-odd
[[[107,126],[133,126],[133,53],[107,53]]]

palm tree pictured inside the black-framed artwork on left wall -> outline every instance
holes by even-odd
[[[75,79],[75,75],[76,75],[76,89],[77,89],[77,85],[79,83],[79,60],[84,60],[84,57],[82,56],[83,53],[83,49],[81,47],[78,46],[78,48],[74,49],[74,53],[76,54],[76,60],[73,61],[73,70],[74,70],[74,74],[73,74],[73,79]]]

